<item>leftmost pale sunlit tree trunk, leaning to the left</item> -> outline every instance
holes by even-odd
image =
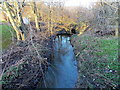
[[[21,40],[21,32],[20,32],[19,28],[17,27],[17,25],[15,24],[15,21],[13,19],[13,16],[12,16],[11,12],[10,12],[8,3],[4,2],[4,6],[6,8],[6,13],[7,13],[8,17],[9,17],[10,23],[12,24],[12,26],[13,26],[15,32],[16,32],[17,40]]]

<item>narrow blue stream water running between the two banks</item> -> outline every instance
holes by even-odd
[[[70,37],[57,36],[54,43],[54,60],[45,74],[46,87],[74,88],[78,76],[76,64]]]

